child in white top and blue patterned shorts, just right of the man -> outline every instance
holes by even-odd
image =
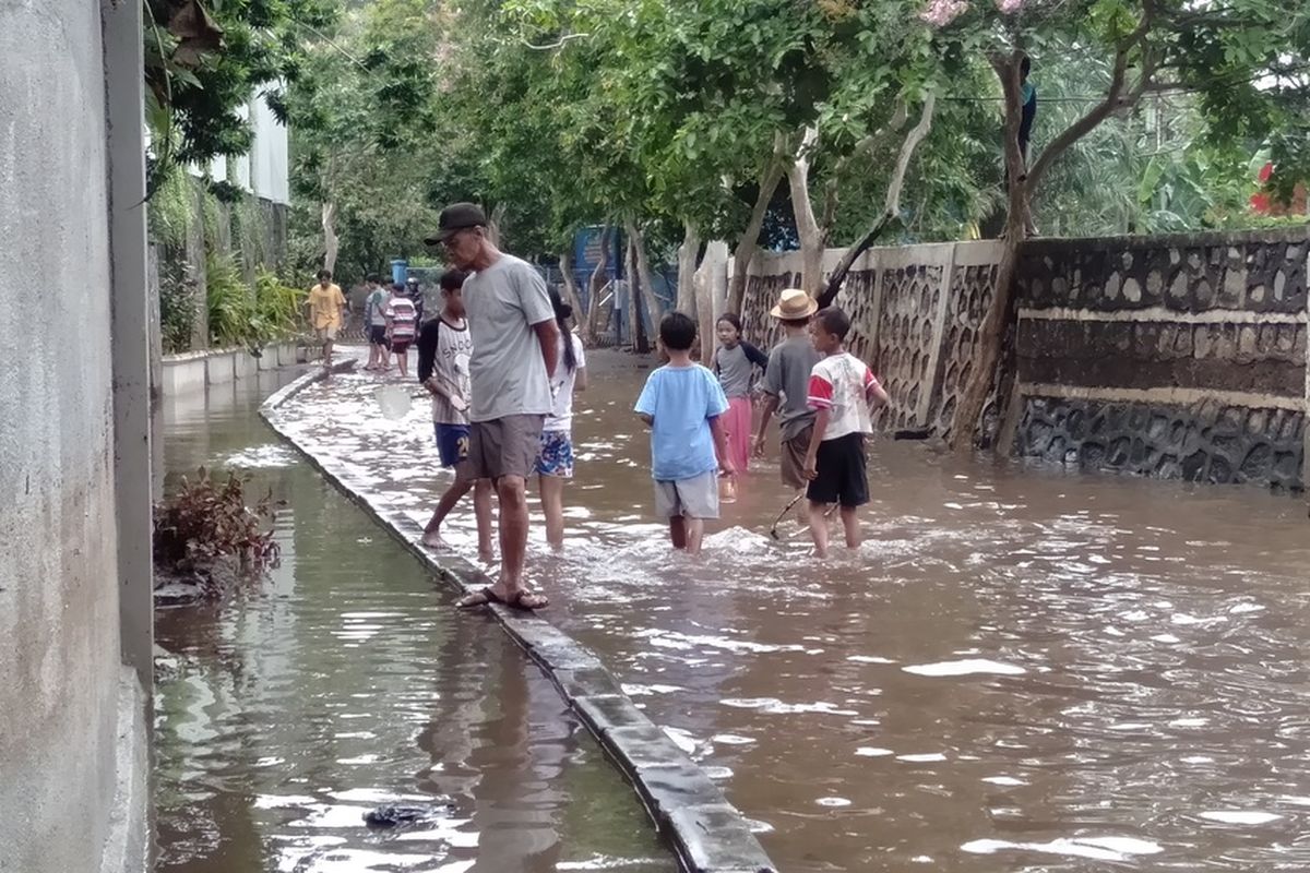
[[[550,305],[559,325],[559,363],[550,380],[554,407],[541,425],[541,450],[537,453],[537,479],[541,484],[541,509],[546,514],[546,542],[555,551],[565,547],[565,482],[572,479],[572,395],[587,390],[587,355],[582,340],[569,330],[572,306],[550,291]]]

